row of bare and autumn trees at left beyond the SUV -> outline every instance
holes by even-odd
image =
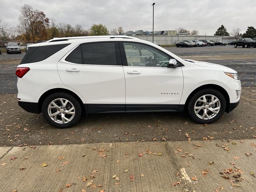
[[[18,18],[19,25],[8,27],[0,18],[0,40],[21,40],[27,42],[45,41],[54,37],[72,37],[89,35],[108,35],[110,32],[103,24],[93,24],[89,29],[81,25],[72,26],[68,23],[57,23],[54,18],[48,18],[43,11],[32,8],[28,4],[21,7]],[[120,26],[112,29],[114,34],[124,32]]]

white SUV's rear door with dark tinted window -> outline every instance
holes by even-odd
[[[58,62],[58,72],[63,84],[83,96],[89,113],[125,111],[118,42],[78,45]]]

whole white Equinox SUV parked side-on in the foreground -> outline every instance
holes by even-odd
[[[30,45],[16,75],[18,104],[58,128],[74,126],[82,112],[188,111],[208,124],[232,111],[241,95],[235,70],[129,36]]]

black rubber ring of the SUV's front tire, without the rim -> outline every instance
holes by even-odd
[[[194,105],[196,103],[196,100],[198,100],[198,98],[206,94],[214,95],[220,100],[220,111],[214,118],[209,120],[202,120],[198,116],[196,116],[194,112]],[[210,124],[217,121],[224,114],[225,110],[226,110],[225,97],[218,90],[214,90],[214,89],[204,89],[204,90],[198,91],[196,94],[194,94],[194,96],[192,96],[192,98],[190,99],[190,102],[188,103],[188,114],[190,115],[192,120],[200,124]]]

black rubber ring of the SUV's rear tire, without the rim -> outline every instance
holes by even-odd
[[[48,115],[48,105],[50,104],[50,102],[52,102],[54,99],[57,99],[57,98],[67,99],[74,105],[76,113],[75,113],[74,118],[68,123],[65,123],[65,124],[56,123]],[[50,125],[52,125],[56,128],[69,128],[69,127],[74,126],[76,123],[78,123],[78,121],[81,118],[82,109],[81,109],[81,106],[80,106],[79,102],[76,100],[76,98],[74,98],[70,94],[59,92],[59,93],[54,93],[54,94],[49,95],[44,100],[44,102],[42,104],[42,114],[44,116],[44,119]]]

